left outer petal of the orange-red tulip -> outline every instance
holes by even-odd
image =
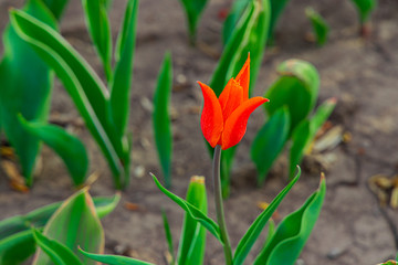
[[[203,94],[205,104],[200,118],[200,127],[206,140],[211,147],[216,147],[221,138],[223,129],[223,118],[221,105],[208,85],[198,82]]]

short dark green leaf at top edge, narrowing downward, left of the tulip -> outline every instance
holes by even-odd
[[[195,43],[198,22],[208,0],[180,0],[187,17],[189,40]]]

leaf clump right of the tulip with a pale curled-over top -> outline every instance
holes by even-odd
[[[333,112],[336,99],[331,98],[316,110],[320,77],[316,68],[301,60],[283,62],[280,77],[266,91],[272,104],[265,105],[269,120],[258,132],[251,147],[251,158],[258,168],[258,180],[262,183],[273,161],[289,140],[290,178],[315,138],[316,131]]]

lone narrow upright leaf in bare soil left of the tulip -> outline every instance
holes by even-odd
[[[171,186],[172,135],[169,102],[172,88],[172,65],[170,54],[165,55],[159,71],[154,96],[154,134],[166,187]]]

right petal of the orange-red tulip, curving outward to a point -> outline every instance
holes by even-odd
[[[224,124],[224,130],[222,131],[222,150],[237,145],[244,136],[248,125],[249,116],[260,105],[269,102],[264,97],[253,97],[245,100],[240,105],[227,119]]]

